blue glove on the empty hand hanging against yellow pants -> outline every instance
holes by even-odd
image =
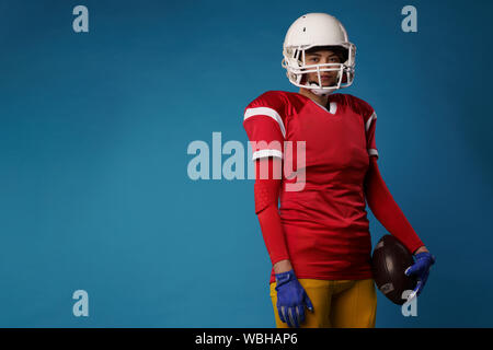
[[[276,291],[280,320],[289,327],[299,327],[305,322],[305,306],[313,311],[313,305],[294,270],[276,273]]]

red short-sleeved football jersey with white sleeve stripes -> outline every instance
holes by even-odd
[[[284,158],[285,141],[291,141],[294,150],[297,142],[306,142],[305,186],[286,190],[296,179],[283,174],[279,206],[298,278],[371,278],[364,179],[369,158],[378,158],[376,119],[369,104],[339,93],[321,106],[298,93],[270,91],[245,108],[243,126],[254,142],[253,160]],[[299,171],[294,162],[294,171]]]

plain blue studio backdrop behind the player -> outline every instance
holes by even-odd
[[[403,33],[406,4],[0,1],[0,326],[274,326],[253,180],[194,182],[186,149],[246,145],[245,105],[297,91],[282,44],[308,12],[356,44],[343,92],[377,110],[383,178],[437,256],[419,316],[379,294],[377,326],[493,326],[493,3],[413,1]]]

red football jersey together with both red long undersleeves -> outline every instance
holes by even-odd
[[[332,94],[326,107],[286,92],[268,92],[246,107],[243,125],[256,165],[289,161],[283,142],[306,141],[303,188],[287,190],[296,179],[284,173],[282,179],[257,175],[255,211],[273,265],[289,259],[298,278],[370,278],[366,201],[411,252],[423,244],[379,174],[371,106]]]

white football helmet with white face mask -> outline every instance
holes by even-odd
[[[305,52],[316,46],[335,46],[343,49],[342,63],[306,65]],[[354,80],[356,46],[347,39],[347,32],[334,16],[326,13],[307,13],[296,20],[287,31],[283,45],[283,62],[289,81],[296,86],[310,89],[317,95],[347,88]],[[320,72],[337,71],[334,85],[323,86]],[[318,82],[301,83],[305,73],[317,72]]]

